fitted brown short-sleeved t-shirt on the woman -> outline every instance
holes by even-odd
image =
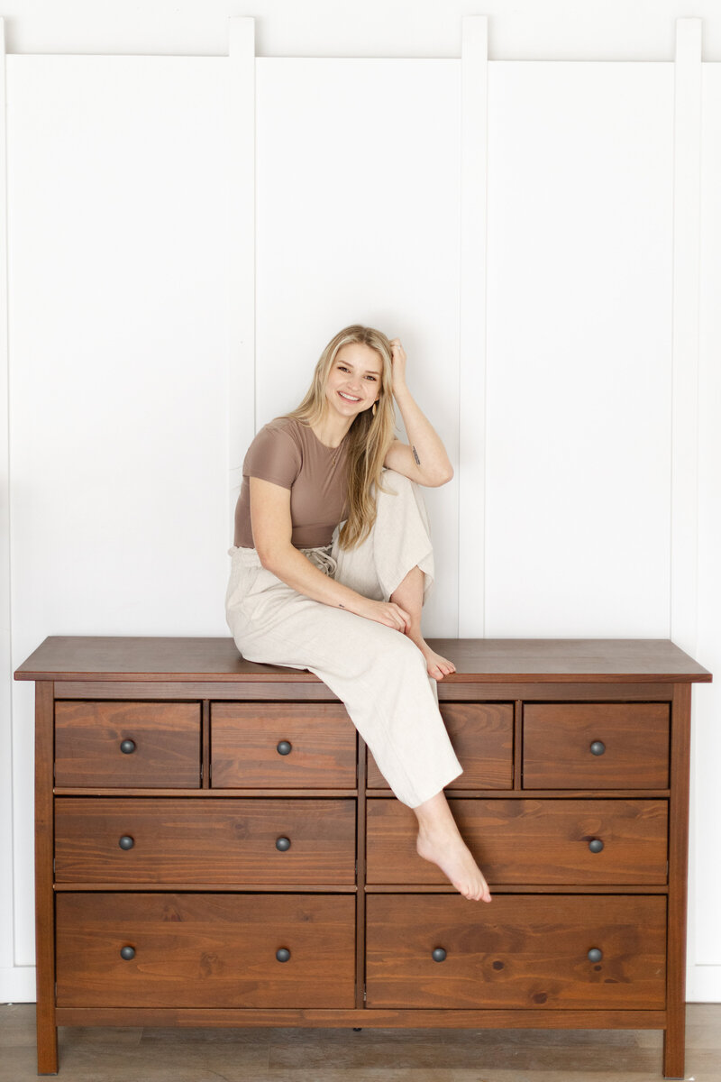
[[[295,418],[278,417],[265,424],[243,460],[243,483],[236,504],[236,545],[255,547],[249,477],[290,488],[291,542],[296,549],[330,544],[335,527],[348,517],[347,439],[339,447],[326,447],[311,427]]]

